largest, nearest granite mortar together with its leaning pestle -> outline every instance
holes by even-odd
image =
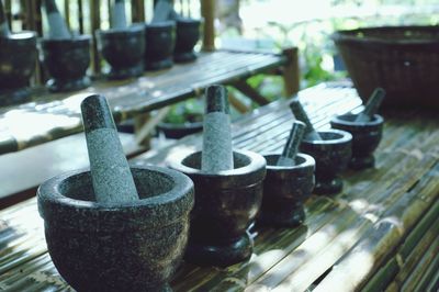
[[[130,168],[106,100],[81,104],[90,171],[37,191],[50,258],[78,291],[171,291],[189,235],[193,183],[159,167]]]

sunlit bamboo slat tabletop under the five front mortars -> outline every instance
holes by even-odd
[[[359,111],[350,87],[320,85],[300,98],[317,128]],[[233,125],[234,145],[279,151],[293,116],[280,100]],[[190,136],[133,164],[162,165],[200,147]],[[385,115],[376,166],[342,173],[345,189],[313,195],[297,228],[251,229],[249,261],[219,269],[183,263],[175,291],[437,291],[439,285],[439,121],[417,110]],[[0,212],[0,290],[69,291],[46,251],[36,200]]]

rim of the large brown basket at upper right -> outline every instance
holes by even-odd
[[[416,40],[416,38],[408,38],[408,40],[389,40],[382,38],[378,36],[368,36],[364,35],[363,37],[358,37],[356,34],[361,32],[375,32],[375,31],[405,31],[405,30],[413,30],[413,31],[437,31],[439,35],[439,25],[386,25],[386,26],[369,26],[369,27],[359,27],[354,30],[338,30],[335,31],[330,38],[334,42],[339,43],[368,43],[368,44],[389,44],[389,45],[425,45],[425,44],[439,44],[439,37],[431,38],[431,40]]]

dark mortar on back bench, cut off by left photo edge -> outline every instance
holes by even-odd
[[[0,104],[14,103],[27,94],[29,79],[37,58],[36,33],[24,31],[0,37],[0,96],[13,99]],[[16,100],[15,100],[16,99]]]

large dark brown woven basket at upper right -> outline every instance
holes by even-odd
[[[439,26],[382,26],[331,35],[360,97],[386,90],[384,106],[439,109]]]

